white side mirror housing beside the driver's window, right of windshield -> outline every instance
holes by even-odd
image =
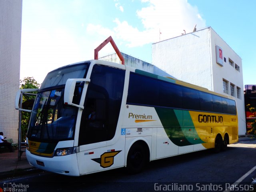
[[[90,79],[68,79],[66,82],[66,85],[65,85],[65,90],[64,90],[64,104],[76,106],[81,109],[84,109],[84,106],[72,103],[73,97],[74,97],[74,91],[75,91],[75,87],[76,87],[76,82],[79,82],[79,81],[84,81],[88,84],[90,82]]]

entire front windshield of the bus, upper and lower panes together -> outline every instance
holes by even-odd
[[[89,64],[54,70],[46,76],[36,96],[27,137],[34,141],[74,139],[78,108],[64,105],[64,88],[68,78],[85,78]],[[77,82],[73,103],[79,104],[84,82]]]

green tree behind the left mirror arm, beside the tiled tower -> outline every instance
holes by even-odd
[[[20,89],[34,89],[39,88],[40,84],[33,77],[25,77],[23,80],[20,80]],[[23,94],[22,98],[22,108],[32,110],[35,96]],[[30,112],[22,112],[22,121],[21,121],[21,139],[24,141],[26,139],[26,133],[28,131],[28,124],[30,120]]]

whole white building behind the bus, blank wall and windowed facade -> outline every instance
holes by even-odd
[[[175,78],[231,95],[246,133],[242,59],[210,27],[152,44],[152,64]]]

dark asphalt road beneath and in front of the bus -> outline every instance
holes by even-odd
[[[0,183],[0,186],[2,187],[3,182],[28,184],[27,192],[150,192],[159,190],[162,184],[169,187],[191,185],[194,191],[214,191],[211,189],[224,191],[224,186],[231,185],[241,178],[242,185],[246,187],[252,182],[252,178],[256,178],[256,171],[252,170],[256,166],[255,147],[255,139],[241,138],[238,144],[230,145],[224,152],[215,154],[211,150],[206,150],[156,160],[151,162],[144,172],[136,175],[127,174],[124,168],[81,177],[42,172],[39,175],[6,179]],[[251,172],[248,173],[250,170]],[[246,173],[248,175],[245,175]],[[219,185],[223,187],[220,188]],[[162,187],[161,190],[164,188]],[[239,188],[236,191],[246,190]]]

